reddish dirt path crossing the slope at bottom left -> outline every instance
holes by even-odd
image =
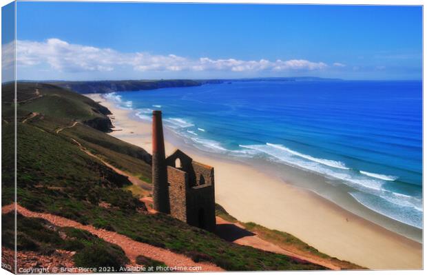
[[[6,205],[1,207],[2,214],[6,214],[7,211],[10,212],[12,210],[14,210],[14,205]],[[198,272],[223,270],[222,268],[217,267],[212,263],[195,263],[193,260],[191,260],[191,258],[181,254],[176,254],[170,250],[148,245],[147,243],[140,243],[132,240],[127,236],[118,234],[116,232],[97,229],[92,225],[82,225],[81,223],[72,221],[68,218],[63,218],[61,216],[55,216],[48,213],[32,212],[24,207],[21,207],[21,205],[17,205],[17,212],[29,218],[43,218],[59,227],[75,227],[81,230],[86,230],[98,236],[99,238],[102,238],[104,241],[114,243],[122,247],[126,256],[133,265],[136,264],[136,256],[143,255],[156,261],[162,261],[169,267],[185,268],[187,270],[189,270],[191,267],[201,267],[201,270],[198,270]]]

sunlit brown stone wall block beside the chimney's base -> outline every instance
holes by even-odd
[[[171,216],[187,223],[187,173],[167,166],[167,180],[169,181],[169,205]]]

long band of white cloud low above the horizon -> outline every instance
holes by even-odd
[[[208,57],[189,59],[175,54],[160,55],[147,52],[127,53],[110,48],[71,44],[55,38],[43,42],[17,41],[18,68],[46,64],[59,72],[111,72],[118,68],[128,68],[135,72],[284,72],[323,70],[328,67],[326,63],[304,59],[244,61]],[[333,65],[335,64],[340,63]]]

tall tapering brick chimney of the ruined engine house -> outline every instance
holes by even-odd
[[[163,139],[162,111],[153,111],[153,158],[152,183],[153,206],[158,212],[169,213],[169,186],[165,162],[165,141]]]

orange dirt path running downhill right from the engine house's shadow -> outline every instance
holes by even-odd
[[[225,221],[225,219],[217,216],[216,224],[218,228],[221,228],[224,225],[229,225],[228,227],[225,227],[225,230],[223,230],[223,232],[220,232],[220,234],[228,234],[229,237],[231,236],[231,238],[233,238],[233,235],[235,235],[236,239],[233,240],[233,243],[238,243],[239,245],[247,245],[247,246],[251,246],[254,248],[258,248],[258,249],[262,249],[265,251],[274,252],[278,254],[284,254],[284,255],[291,256],[293,258],[297,258],[303,261],[308,261],[310,263],[322,265],[324,267],[328,267],[329,269],[340,270],[340,267],[337,267],[336,265],[333,265],[332,263],[329,263],[327,261],[320,261],[310,256],[296,254],[295,252],[291,252],[287,249],[283,249],[278,245],[275,245],[268,241],[264,241],[258,235],[244,229],[244,227],[240,225],[240,223],[230,223],[229,221]]]

